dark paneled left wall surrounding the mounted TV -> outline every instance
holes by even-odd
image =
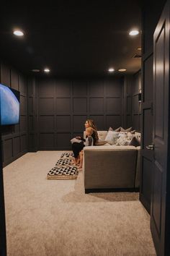
[[[6,166],[27,152],[27,80],[9,65],[1,63],[1,83],[20,91],[19,124],[1,127]]]

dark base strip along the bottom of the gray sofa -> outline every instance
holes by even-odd
[[[117,189],[85,189],[85,194],[89,193],[110,193],[110,192],[139,192],[138,187],[133,188],[117,188]]]

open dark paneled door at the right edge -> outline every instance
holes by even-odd
[[[153,36],[151,233],[158,255],[169,255],[169,11],[170,4],[167,1]]]

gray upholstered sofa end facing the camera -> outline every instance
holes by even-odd
[[[103,133],[106,135],[106,131]],[[85,147],[83,172],[85,192],[138,190],[140,147],[109,144]]]

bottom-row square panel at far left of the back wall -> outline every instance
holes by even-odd
[[[40,148],[53,148],[55,146],[54,133],[40,133],[39,135]]]

